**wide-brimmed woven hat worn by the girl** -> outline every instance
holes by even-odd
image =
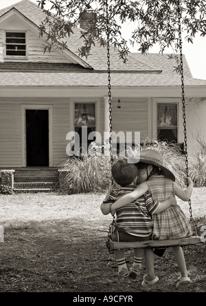
[[[139,156],[139,163],[147,163],[149,165],[155,165],[162,170],[162,173],[165,177],[175,181],[174,174],[163,166],[163,157],[156,150],[142,150]],[[138,167],[138,163],[137,163]]]

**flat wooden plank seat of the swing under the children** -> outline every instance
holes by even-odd
[[[172,247],[181,245],[198,245],[201,244],[201,237],[190,236],[179,239],[168,239],[168,240],[150,240],[150,241],[136,241],[136,242],[117,242],[110,241],[111,249],[137,249],[142,247],[158,248],[158,247]]]

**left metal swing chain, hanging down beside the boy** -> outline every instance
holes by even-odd
[[[113,144],[112,144],[112,108],[111,108],[111,70],[110,70],[110,46],[109,46],[109,21],[108,21],[108,1],[105,3],[106,6],[106,48],[107,48],[107,72],[108,72],[108,112],[109,112],[109,150],[110,150],[110,161],[111,167],[113,165]],[[113,176],[111,176],[111,181],[113,183]]]

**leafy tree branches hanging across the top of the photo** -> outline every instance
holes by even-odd
[[[176,52],[180,43],[179,18],[188,42],[192,43],[197,32],[201,36],[206,34],[204,0],[38,0],[38,6],[48,8],[45,9],[45,21],[40,26],[41,35],[47,33],[48,50],[59,43],[65,48],[80,16],[84,12],[95,12],[95,19],[89,21],[88,30],[82,31],[84,45],[79,49],[82,57],[87,57],[96,43],[105,46],[106,39],[117,47],[119,57],[124,61],[128,55],[128,42],[137,44],[138,50],[143,53],[156,43],[160,45],[160,52],[171,46]],[[126,22],[134,23],[129,39],[122,36],[122,23]]]

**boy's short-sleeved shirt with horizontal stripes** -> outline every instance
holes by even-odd
[[[128,185],[112,190],[103,205],[111,205],[118,198],[132,192],[134,189],[135,186]],[[153,229],[152,214],[155,214],[158,207],[159,202],[155,201],[149,192],[146,192],[144,196],[140,196],[133,203],[116,211],[116,229],[119,232],[126,232],[133,236],[149,236],[152,234]]]

